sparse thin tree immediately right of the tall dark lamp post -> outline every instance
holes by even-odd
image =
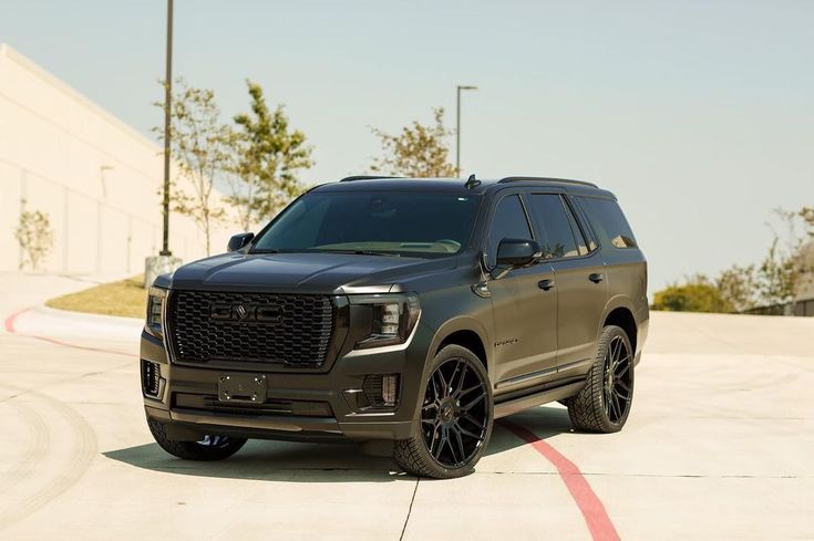
[[[195,89],[183,79],[176,81],[171,111],[171,153],[184,181],[173,179],[173,210],[195,220],[206,238],[206,254],[212,252],[212,228],[223,220],[225,210],[213,197],[215,181],[229,168],[231,131],[219,121],[215,93]],[[164,103],[156,103],[164,108]],[[163,139],[163,128],[153,128]]]

